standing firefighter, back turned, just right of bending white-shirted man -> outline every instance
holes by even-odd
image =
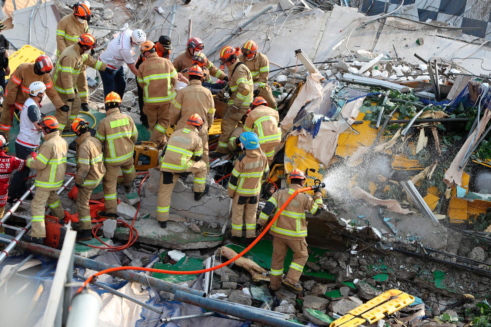
[[[136,80],[143,88],[143,113],[152,133],[149,141],[164,149],[165,130],[170,126],[170,102],[176,96],[177,72],[169,60],[159,57],[152,41],[141,45],[141,53],[145,61],[138,67]]]

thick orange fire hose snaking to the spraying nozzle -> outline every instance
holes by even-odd
[[[257,242],[259,242],[259,240],[266,234],[266,232],[274,224],[276,219],[278,219],[278,217],[281,214],[281,212],[283,211],[283,209],[288,205],[288,203],[290,203],[290,201],[293,200],[293,198],[295,198],[295,196],[297,196],[297,194],[299,194],[300,192],[310,191],[312,189],[313,189],[312,186],[308,186],[308,187],[304,187],[304,188],[301,188],[300,190],[296,190],[295,192],[293,192],[292,195],[285,201],[285,203],[278,209],[278,211],[276,212],[276,214],[274,215],[273,219],[268,224],[268,226],[266,226],[263,229],[263,231],[259,234],[259,236],[248,247],[246,247],[246,249],[244,249],[244,251],[240,252],[239,254],[237,254],[236,256],[231,258],[230,260],[219,264],[218,266],[207,268],[207,269],[201,269],[201,270],[191,270],[191,271],[173,271],[173,270],[163,270],[163,269],[145,268],[145,267],[113,267],[113,268],[102,270],[102,271],[88,277],[87,280],[85,280],[83,282],[83,285],[79,288],[77,293],[82,292],[82,290],[87,286],[87,284],[90,283],[92,278],[97,277],[97,276],[101,276],[103,274],[107,274],[110,272],[118,271],[118,270],[139,270],[139,271],[147,271],[147,272],[152,272],[152,273],[162,273],[162,274],[172,274],[172,275],[195,275],[195,274],[208,273],[208,272],[220,269],[222,267],[225,267],[225,266],[229,265],[230,263],[234,262],[235,260],[237,260],[238,258],[242,257],[250,249],[252,249],[252,247],[254,245],[256,245]]]

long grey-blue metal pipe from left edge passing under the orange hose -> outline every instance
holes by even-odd
[[[12,236],[10,235],[4,235],[4,237],[9,239],[12,238]],[[26,242],[26,241],[20,241],[19,248],[36,254],[46,255],[54,259],[58,259],[60,255],[60,250],[46,247],[44,245]],[[92,259],[84,258],[80,255],[75,255],[75,265],[81,266],[83,268],[91,269],[94,271],[102,271],[114,267],[104,262],[98,262]],[[148,287],[153,287],[158,289],[159,291],[165,291],[172,294],[175,294],[177,291],[188,292],[196,296],[204,296],[205,294],[203,291],[196,291],[188,287],[184,287],[181,285],[170,283],[168,281],[157,279],[155,277],[150,277],[144,274],[136,273],[135,271],[132,270],[115,271],[109,273],[109,275],[123,278],[128,281],[132,281]]]

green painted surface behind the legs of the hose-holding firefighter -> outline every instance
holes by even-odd
[[[243,243],[241,243],[240,246],[235,245],[235,244],[230,244],[230,245],[227,245],[227,247],[231,248],[232,250],[234,250],[237,253],[240,253],[247,247],[247,245],[243,244]],[[326,252],[326,249],[320,249],[320,248],[314,248],[314,247],[309,247],[309,249],[311,250],[312,253],[309,254],[307,261],[310,261],[310,262],[318,261],[318,258],[316,258],[315,256],[318,255],[318,257],[322,257],[322,256],[324,256],[324,253]],[[261,267],[269,270],[271,268],[271,256],[272,255],[273,255],[273,241],[262,239],[252,248],[252,250],[247,252],[244,256],[246,258],[253,260],[254,262],[256,262]],[[292,259],[293,259],[293,251],[291,249],[288,249],[288,252],[286,253],[286,257],[285,257],[285,264],[283,267],[285,272],[288,271],[288,266],[292,262]],[[327,273],[326,271],[324,271],[324,272],[322,272],[322,271],[318,271],[318,272],[310,271],[310,272],[308,272],[309,270],[310,269],[305,265],[305,267],[303,268],[303,275],[311,276],[311,277],[321,277],[321,278],[326,278],[326,279],[330,279],[330,280],[336,280],[336,277],[334,275],[331,275],[331,274]]]

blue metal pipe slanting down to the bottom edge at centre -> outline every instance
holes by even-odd
[[[253,321],[258,324],[271,327],[298,327],[297,323],[286,319],[269,316],[259,313],[255,307],[239,306],[233,303],[216,301],[210,298],[199,297],[190,293],[177,291],[174,300],[190,303],[202,308],[213,310],[215,312],[231,315],[244,320]]]

